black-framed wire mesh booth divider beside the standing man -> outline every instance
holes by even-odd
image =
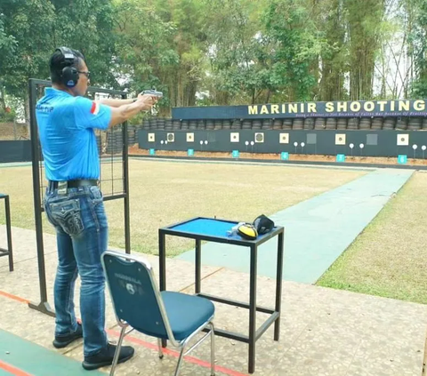
[[[33,174],[33,196],[34,214],[36,220],[36,247],[38,261],[38,277],[40,284],[40,301],[29,302],[28,306],[49,316],[55,316],[54,311],[47,301],[46,272],[44,263],[44,241],[42,213],[43,195],[46,188],[44,177],[44,162],[40,147],[38,130],[36,124],[36,102],[43,95],[44,88],[52,86],[50,81],[31,78],[28,81],[29,109],[30,109],[30,135],[31,135],[31,158]],[[126,92],[103,89],[99,87],[89,87],[87,95],[95,99],[96,94],[102,96],[119,96],[121,99],[127,98]],[[123,199],[125,217],[125,252],[131,252],[130,237],[130,213],[129,213],[129,158],[128,158],[128,138],[127,123],[117,125],[114,131],[95,132],[98,151],[100,156],[100,188],[104,196],[104,201]],[[115,171],[115,165],[119,164],[119,169]],[[118,173],[117,173],[118,172]],[[116,183],[116,186],[115,186]],[[117,189],[117,185],[119,188]]]

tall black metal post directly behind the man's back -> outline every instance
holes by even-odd
[[[40,172],[38,153],[38,132],[36,125],[36,84],[29,80],[29,108],[30,108],[30,134],[31,134],[31,159],[33,169],[33,195],[34,195],[34,216],[36,220],[36,246],[38,261],[38,280],[40,283],[40,302],[38,304],[28,303],[30,308],[34,308],[47,315],[55,316],[52,308],[47,302],[46,271],[44,268],[44,244],[43,244],[43,224],[42,224],[42,203],[40,199]]]

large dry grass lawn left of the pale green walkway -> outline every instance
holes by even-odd
[[[367,172],[284,165],[204,164],[130,160],[131,243],[133,251],[158,252],[158,228],[192,217],[253,221],[341,186]],[[120,164],[102,166],[102,178],[121,176]],[[109,195],[110,182],[102,184]],[[119,187],[117,181],[114,189]],[[30,167],[0,168],[0,192],[11,196],[12,225],[34,228]],[[123,200],[105,203],[109,244],[124,248]],[[0,221],[4,223],[0,205]],[[44,231],[53,233],[45,216]],[[193,242],[166,239],[168,255],[188,251]]]

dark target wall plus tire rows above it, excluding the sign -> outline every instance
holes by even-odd
[[[150,119],[136,131],[139,148],[142,149],[423,158],[425,152],[422,147],[427,147],[425,130],[426,117],[375,116],[189,121]],[[252,141],[254,145],[251,145]]]

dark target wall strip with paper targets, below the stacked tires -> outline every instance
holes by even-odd
[[[404,131],[145,131],[139,148],[156,150],[311,154],[333,156],[427,156],[427,132]],[[167,142],[166,142],[167,141]],[[296,143],[296,144],[295,144]],[[416,148],[414,146],[416,145]]]

